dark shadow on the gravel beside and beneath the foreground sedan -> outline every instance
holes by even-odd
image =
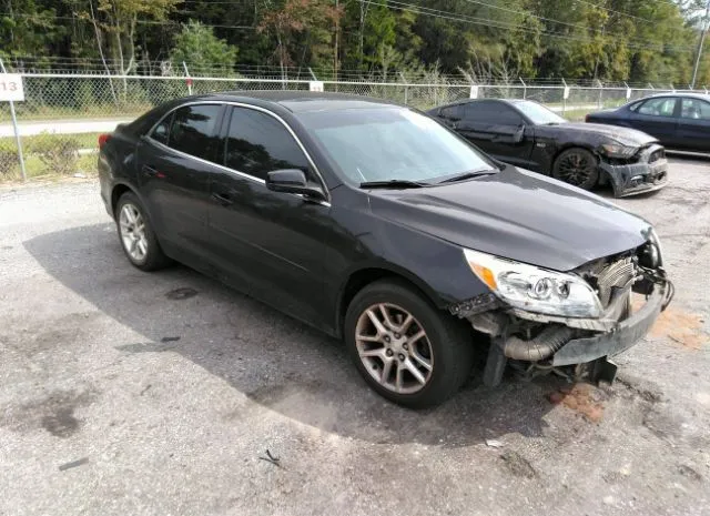
[[[44,234],[24,247],[51,276],[142,336],[116,342],[119,353],[178,353],[262,407],[325,432],[443,446],[540,436],[552,407],[546,395],[561,385],[556,377],[508,378],[487,388],[479,365],[449,402],[406,409],[365,385],[338,341],[187,267],[135,270],[111,223]]]

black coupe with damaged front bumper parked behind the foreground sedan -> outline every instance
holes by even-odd
[[[668,182],[665,150],[655,138],[571,123],[530,100],[465,100],[428,114],[500,161],[585,190],[611,184],[615,196],[625,196],[660,190]]]

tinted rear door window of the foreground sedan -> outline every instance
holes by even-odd
[[[176,151],[214,161],[217,144],[215,123],[221,105],[186,105],[173,114],[168,144]]]

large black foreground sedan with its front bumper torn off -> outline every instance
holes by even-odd
[[[670,302],[648,222],[403,105],[192,97],[99,143],[101,196],[135,267],[176,260],[344,338],[403,405],[453,395],[481,352],[488,385],[508,362],[612,372],[606,357]],[[631,314],[632,291],[647,302]]]

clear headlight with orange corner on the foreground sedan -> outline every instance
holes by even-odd
[[[601,316],[597,294],[581,277],[468,249],[464,256],[474,274],[511,306],[565,317]]]

